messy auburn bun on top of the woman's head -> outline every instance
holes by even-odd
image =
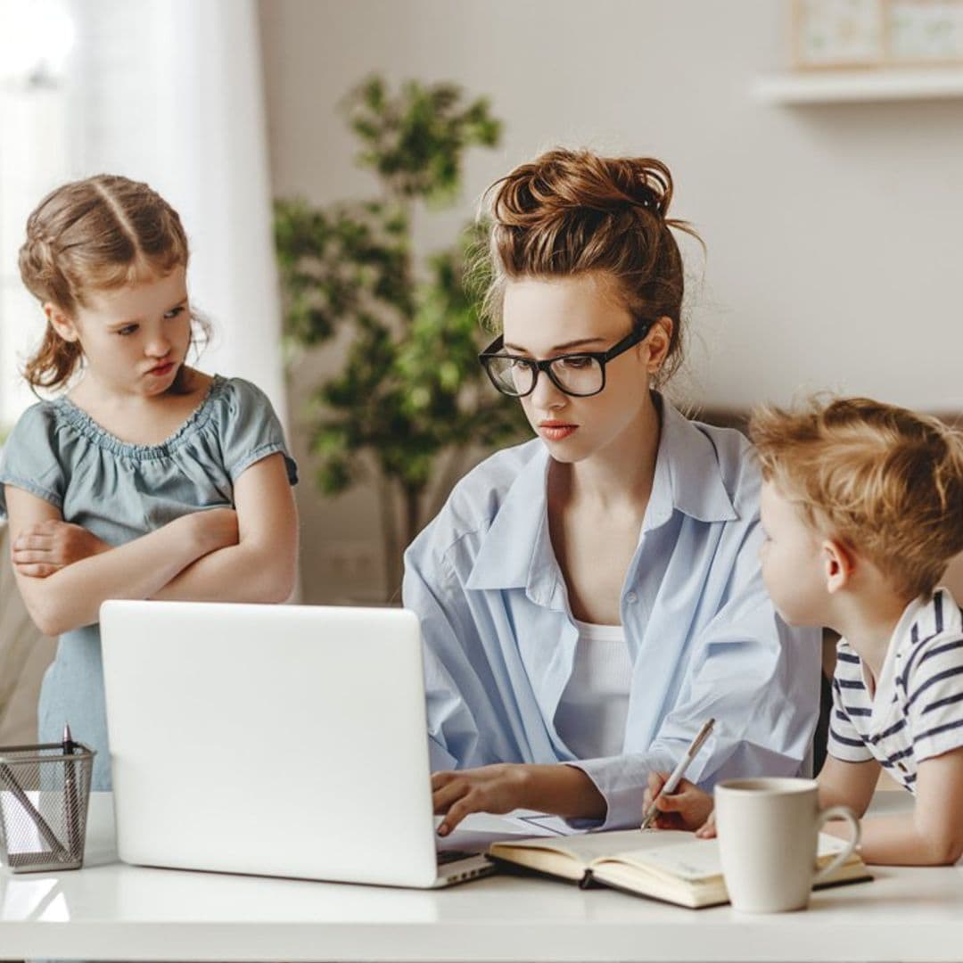
[[[557,148],[523,164],[496,185],[493,215],[511,226],[544,221],[579,209],[647,211],[664,219],[672,200],[672,175],[650,157],[599,157]]]

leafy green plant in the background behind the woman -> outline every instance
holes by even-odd
[[[447,497],[469,456],[518,437],[524,420],[487,383],[483,277],[473,274],[483,230],[467,228],[419,270],[415,205],[450,204],[462,156],[498,143],[486,99],[464,102],[451,84],[389,91],[372,77],[344,102],[361,142],[357,163],[380,195],[313,207],[275,202],[284,329],[313,351],[350,329],[341,370],[312,395],[311,451],[325,495],[377,485],[388,597],[401,584],[404,547]]]

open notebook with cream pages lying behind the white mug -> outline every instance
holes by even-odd
[[[820,833],[817,864],[822,867],[846,848],[844,840]],[[698,909],[729,901],[717,840],[697,840],[672,830],[626,829],[564,839],[494,843],[488,855],[503,865],[569,879],[582,887],[611,886],[641,897]],[[872,879],[857,852],[819,888]]]

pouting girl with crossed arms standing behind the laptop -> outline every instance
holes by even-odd
[[[24,376],[61,393],[13,429],[0,512],[27,609],[61,637],[40,742],[69,721],[98,750],[95,790],[110,788],[100,603],[281,602],[294,585],[296,466],[254,385],[186,364],[188,256],[162,197],[106,175],[45,197],[20,248],[47,319]]]

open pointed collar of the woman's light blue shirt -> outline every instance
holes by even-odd
[[[654,400],[662,433],[642,533],[664,525],[675,510],[700,522],[738,518],[709,436],[658,394]],[[467,588],[526,588],[538,604],[563,608],[564,583],[548,529],[550,462],[548,449],[541,446],[512,481],[481,544]]]

